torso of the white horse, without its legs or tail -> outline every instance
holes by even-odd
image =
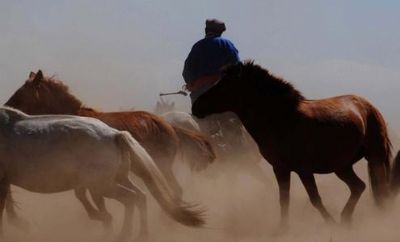
[[[29,116],[11,126],[2,149],[11,183],[36,192],[113,179],[119,131],[92,118]]]

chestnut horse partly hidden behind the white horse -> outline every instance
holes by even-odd
[[[69,93],[68,87],[52,77],[43,76],[42,71],[31,72],[28,80],[6,102],[6,106],[17,108],[27,114],[70,114],[100,119],[119,130],[128,131],[150,154],[154,162],[163,172],[172,188],[182,195],[182,189],[172,172],[172,164],[180,150],[189,158],[194,170],[204,169],[215,159],[215,153],[207,138],[195,131],[189,131],[169,125],[162,118],[144,111],[130,112],[98,112],[85,107],[80,100]],[[108,221],[99,214],[86,197],[85,189],[76,189],[75,195],[82,202],[91,219]],[[139,189],[139,211],[145,221],[146,202],[144,192]],[[94,201],[99,208],[104,207],[102,201]],[[10,202],[6,204],[10,221],[18,225],[14,208]]]

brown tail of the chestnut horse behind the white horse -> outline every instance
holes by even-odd
[[[192,170],[205,169],[215,160],[215,151],[206,136],[194,130],[173,128],[179,138],[180,150]]]

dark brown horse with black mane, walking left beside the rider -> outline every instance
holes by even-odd
[[[281,224],[286,225],[290,173],[297,173],[311,203],[323,218],[332,216],[323,205],[314,173],[334,172],[350,188],[342,221],[351,220],[365,183],[353,164],[368,160],[372,192],[379,206],[389,195],[391,144],[385,121],[367,100],[355,95],[307,100],[290,83],[253,62],[224,70],[218,84],[192,106],[198,117],[236,113],[272,165],[279,185]]]

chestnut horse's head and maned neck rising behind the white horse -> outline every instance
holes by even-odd
[[[39,70],[29,74],[5,105],[28,114],[74,114],[81,102],[69,94],[67,86]]]

